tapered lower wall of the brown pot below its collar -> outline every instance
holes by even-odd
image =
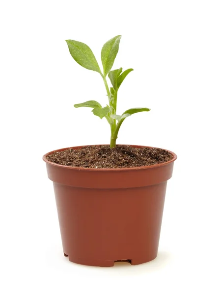
[[[136,265],[157,256],[166,182],[130,189],[54,183],[63,251],[75,263]]]

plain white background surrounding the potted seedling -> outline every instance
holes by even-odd
[[[113,69],[134,68],[119,91],[118,144],[163,147],[178,159],[168,181],[156,260],[113,268],[63,256],[44,153],[108,144],[108,123],[76,109],[106,105],[98,73],[66,39],[90,46],[122,34]],[[221,1],[5,0],[0,4],[0,292],[221,293]],[[101,63],[100,63],[101,64]]]

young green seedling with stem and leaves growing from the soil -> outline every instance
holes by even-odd
[[[128,73],[133,71],[133,69],[128,69],[122,72],[122,68],[120,68],[119,70],[111,71],[114,59],[119,49],[120,39],[120,35],[116,36],[105,43],[105,45],[103,46],[101,50],[103,73],[100,70],[100,67],[93,52],[86,44],[74,40],[66,40],[69,51],[74,60],[84,68],[100,73],[100,75],[102,76],[107,91],[107,96],[109,98],[109,105],[107,104],[107,106],[102,107],[99,102],[89,100],[80,104],[75,104],[74,106],[91,107],[93,108],[92,112],[94,115],[100,117],[101,119],[103,119],[104,117],[107,119],[108,123],[111,126],[111,148],[116,147],[116,139],[120,126],[127,117],[137,112],[150,111],[149,108],[130,108],[124,111],[122,115],[116,114],[118,90]],[[110,89],[106,79],[107,75],[110,78],[112,84],[112,87]]]

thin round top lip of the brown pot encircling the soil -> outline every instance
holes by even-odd
[[[151,147],[151,146],[142,146],[142,145],[130,145],[130,144],[117,144],[117,145],[122,145],[122,146],[131,146],[131,147],[137,147],[137,148],[144,148],[144,147],[148,147],[148,148],[159,148],[159,147]],[[50,151],[46,154],[44,154],[43,156],[43,160],[52,165],[52,166],[56,166],[56,167],[59,167],[59,168],[65,168],[65,169],[72,169],[72,170],[79,170],[79,171],[97,171],[97,172],[110,172],[110,171],[135,171],[135,170],[145,170],[145,169],[154,169],[154,168],[158,168],[158,167],[161,167],[161,166],[165,166],[167,164],[170,164],[172,162],[174,162],[176,159],[177,159],[177,155],[170,151],[170,150],[167,150],[165,148],[161,148],[161,149],[164,149],[168,152],[170,152],[172,155],[173,155],[173,158],[169,161],[166,161],[166,162],[163,162],[163,163],[158,163],[158,164],[154,164],[154,165],[150,165],[150,166],[141,166],[141,167],[134,167],[134,168],[113,168],[113,169],[96,169],[96,168],[82,168],[82,167],[71,167],[71,166],[65,166],[65,165],[61,165],[61,164],[57,164],[57,163],[54,163],[52,161],[49,161],[46,157],[53,153],[53,152],[56,152],[56,151],[63,151],[63,150],[66,150],[66,149],[69,149],[69,148],[75,148],[75,149],[80,149],[81,147],[88,147],[88,146],[109,146],[109,144],[95,144],[95,145],[82,145],[82,146],[74,146],[74,147],[65,147],[65,148],[59,148],[59,149],[56,149],[56,150],[53,150],[53,151]]]

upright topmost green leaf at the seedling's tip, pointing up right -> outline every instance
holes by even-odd
[[[112,38],[107,43],[105,43],[101,50],[101,61],[104,68],[104,76],[110,72],[113,66],[114,59],[119,49],[120,38],[121,35]]]

